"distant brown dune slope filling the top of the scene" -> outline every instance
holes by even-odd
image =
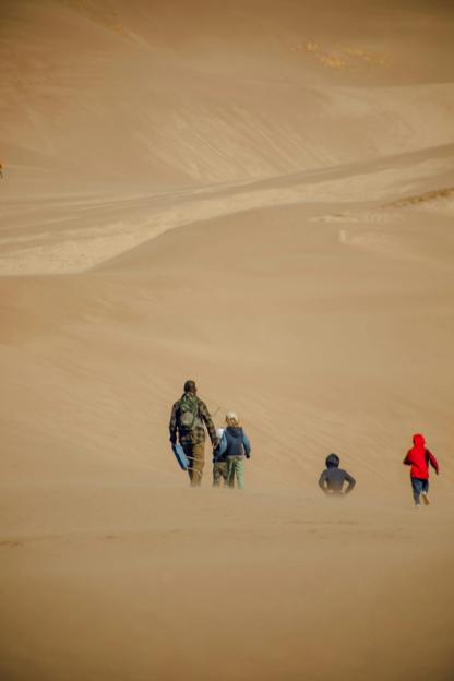
[[[238,181],[453,139],[450,3],[19,0],[0,19],[13,177]]]

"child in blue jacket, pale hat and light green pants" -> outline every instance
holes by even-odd
[[[240,426],[235,411],[226,415],[226,428],[220,442],[215,451],[215,465],[217,462],[227,463],[227,485],[235,487],[237,479],[238,489],[244,489],[244,459],[251,456],[251,443]]]

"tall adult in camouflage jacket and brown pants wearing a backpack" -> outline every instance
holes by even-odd
[[[196,395],[194,381],[184,383],[184,393],[171,408],[169,431],[170,442],[179,443],[188,456],[190,467],[189,479],[192,487],[199,487],[202,481],[205,464],[205,427],[208,431],[213,449],[217,446],[217,437],[207,406]]]

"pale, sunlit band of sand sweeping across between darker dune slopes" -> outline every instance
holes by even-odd
[[[198,191],[138,194],[136,189],[132,195],[112,195],[110,190],[95,195],[50,194],[38,202],[14,198],[4,204],[8,228],[0,237],[4,253],[0,272],[87,271],[168,229],[259,206],[342,204],[366,198],[372,215],[379,201],[402,207],[421,188],[422,195],[429,198],[443,194],[454,181],[453,162],[454,147],[447,145],[380,162]],[[425,191],[428,187],[435,189]]]

